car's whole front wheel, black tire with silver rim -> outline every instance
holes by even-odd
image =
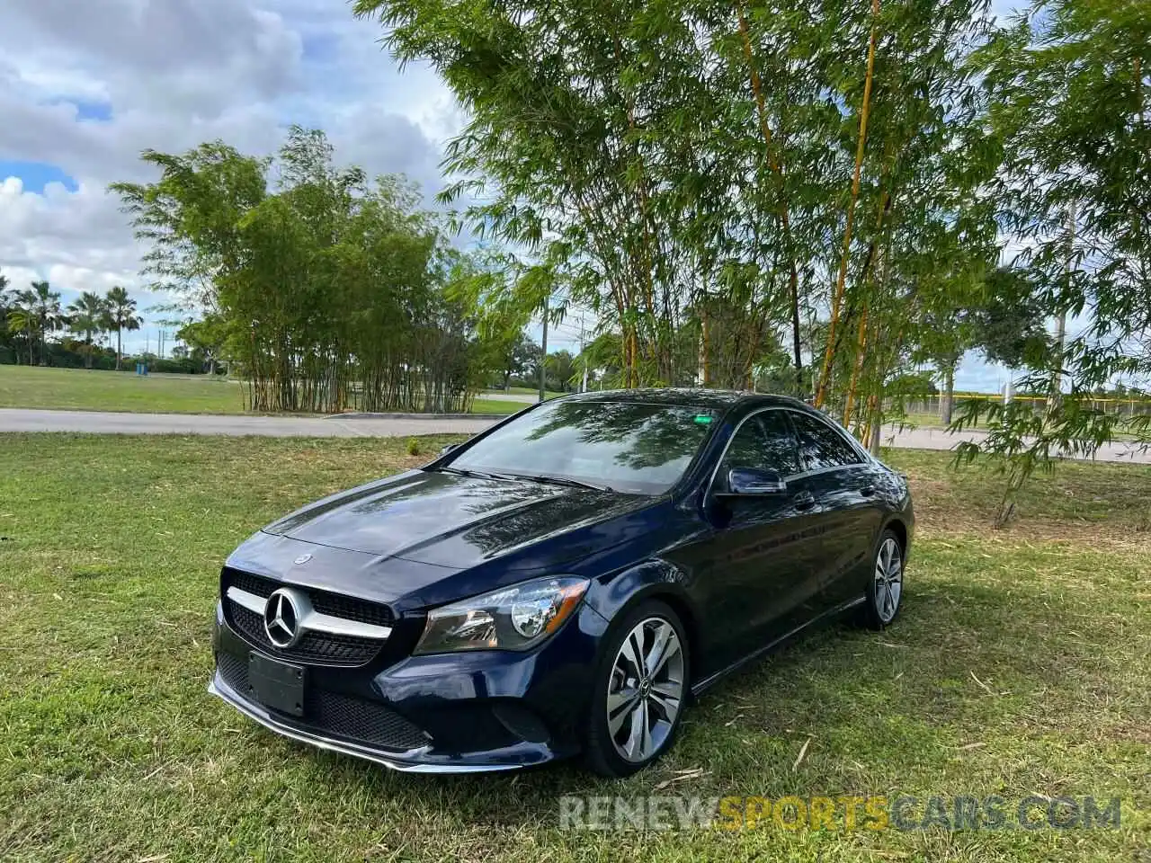
[[[641,602],[611,627],[587,720],[590,770],[631,776],[671,747],[689,695],[687,651],[679,617],[657,599]]]

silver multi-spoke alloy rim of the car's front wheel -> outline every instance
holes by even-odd
[[[658,753],[684,702],[684,651],[674,627],[649,617],[627,634],[608,682],[608,733],[631,763]]]

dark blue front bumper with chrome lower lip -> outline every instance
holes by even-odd
[[[579,751],[605,628],[584,605],[554,637],[524,654],[483,650],[397,662],[384,650],[359,667],[307,664],[307,701],[297,717],[247,690],[250,652],[282,657],[246,641],[218,606],[208,692],[277,734],[394,770],[513,770]]]

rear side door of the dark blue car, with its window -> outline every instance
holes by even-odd
[[[846,433],[814,413],[788,411],[803,475],[796,491],[815,502],[820,582],[825,608],[860,596],[867,587],[871,545],[882,510],[870,463]]]

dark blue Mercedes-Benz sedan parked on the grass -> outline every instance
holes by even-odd
[[[801,402],[567,396],[244,542],[209,688],[399,770],[626,776],[722,675],[890,624],[912,528],[905,479]]]

